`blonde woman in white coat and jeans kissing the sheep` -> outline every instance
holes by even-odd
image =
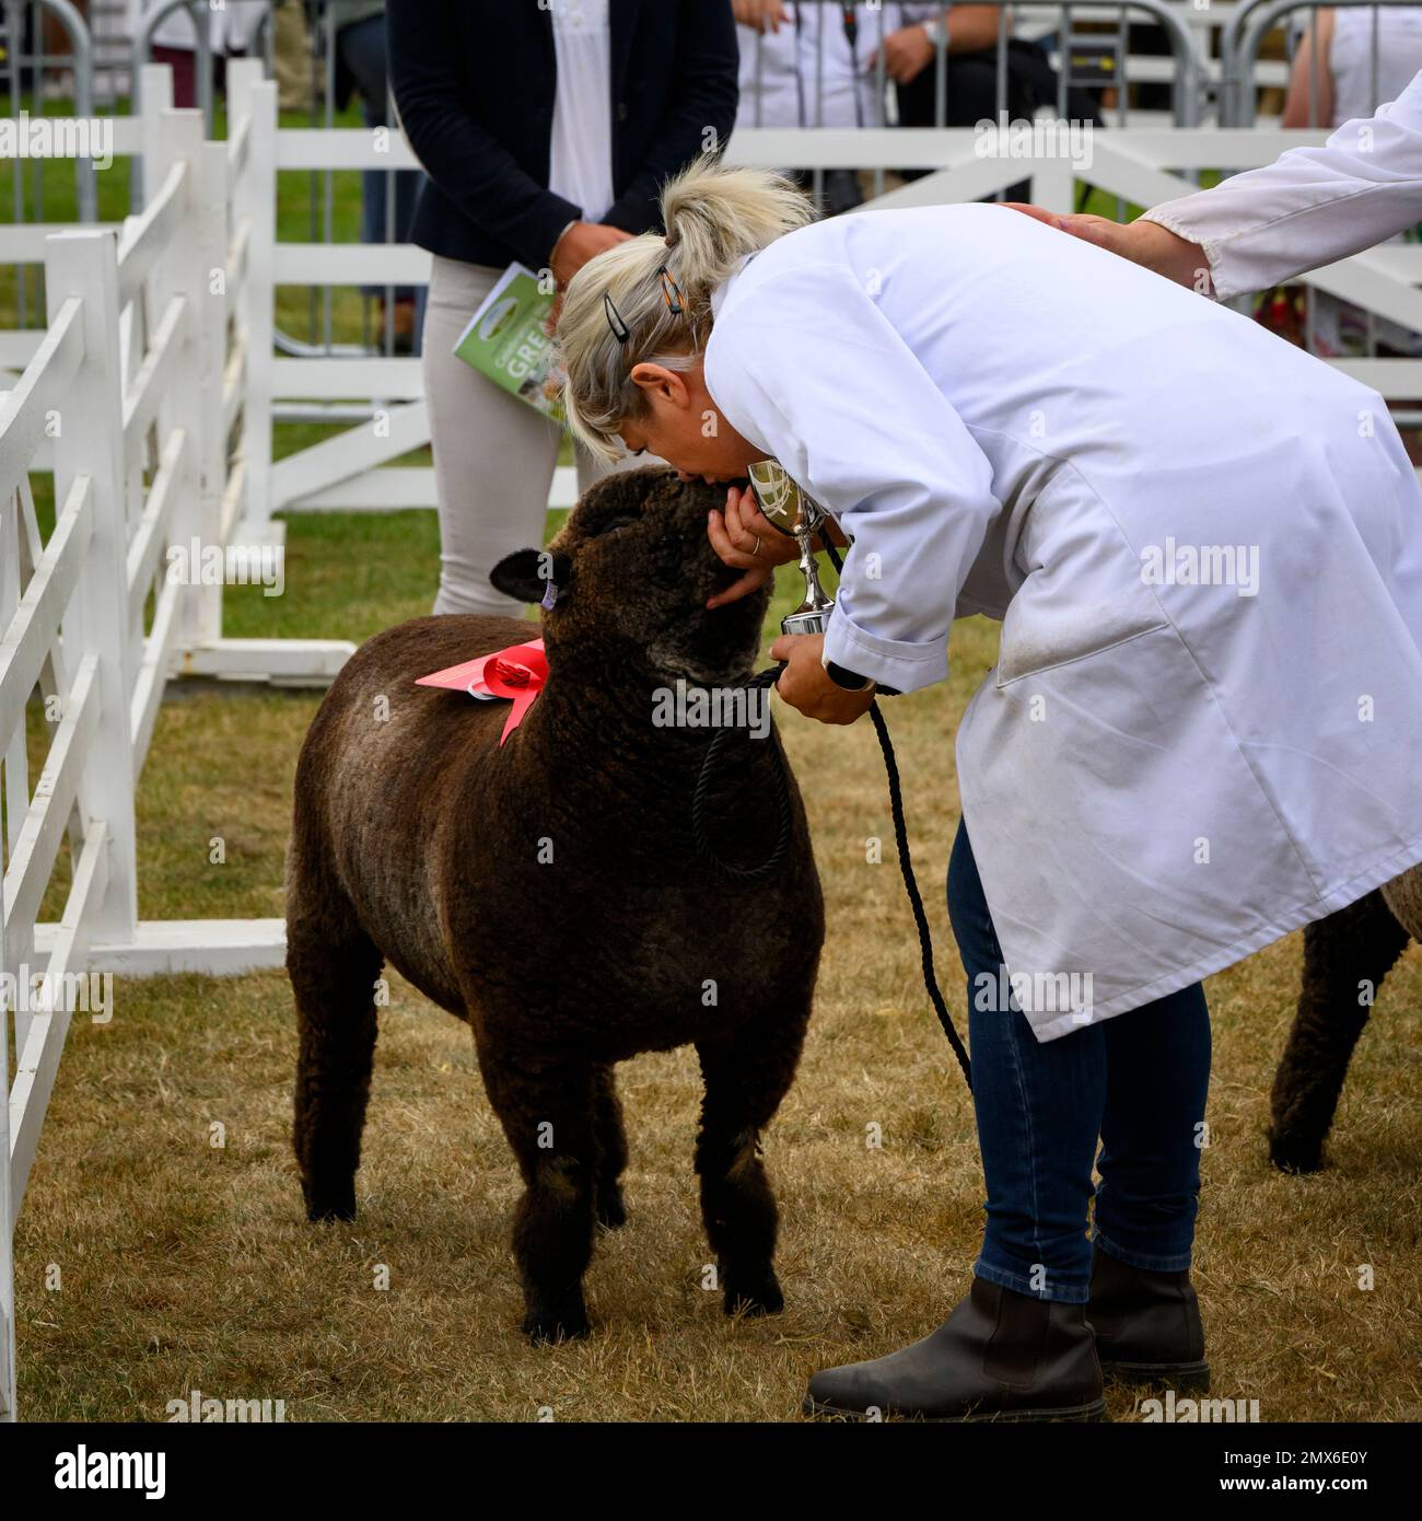
[[[808,1408],[1201,1387],[1200,980],[1422,858],[1422,493],[1375,392],[1098,248],[992,205],[808,214],[703,163],[560,322],[589,444],[776,458],[836,519],[788,703],[850,722],[943,680],[955,616],[1002,621],[949,873],[986,1238],[944,1326]],[[727,596],[785,558],[739,490],[710,532]]]

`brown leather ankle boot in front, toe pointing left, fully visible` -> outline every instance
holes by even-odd
[[[1100,1421],[1101,1364],[1086,1305],[1062,1305],[973,1278],[932,1335],[873,1363],[809,1381],[806,1415],[862,1421]]]

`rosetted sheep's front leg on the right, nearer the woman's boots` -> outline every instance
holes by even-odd
[[[728,1037],[698,1040],[706,1097],[697,1136],[701,1215],[716,1253],[728,1316],[785,1308],[776,1279],[776,1196],[760,1161],[760,1132],[789,1091],[805,1016],[756,1021]]]

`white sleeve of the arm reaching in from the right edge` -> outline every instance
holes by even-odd
[[[1422,222],[1422,73],[1322,148],[1293,148],[1141,219],[1198,243],[1215,298],[1291,280]]]

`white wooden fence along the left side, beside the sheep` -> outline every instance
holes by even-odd
[[[254,70],[239,68],[248,99],[274,97]],[[351,649],[225,639],[221,581],[193,573],[192,548],[221,554],[242,514],[245,452],[269,456],[245,412],[251,344],[271,333],[249,256],[272,186],[252,176],[249,117],[227,143],[204,141],[196,111],[160,105],[152,126],[143,213],[44,236],[49,327],[0,397],[0,1419],[14,1415],[12,1226],[75,978],[283,955],[280,920],[138,919],[134,792],[164,684],[329,678]],[[32,484],[44,473],[47,535]],[[56,894],[58,920],[41,923]]]

